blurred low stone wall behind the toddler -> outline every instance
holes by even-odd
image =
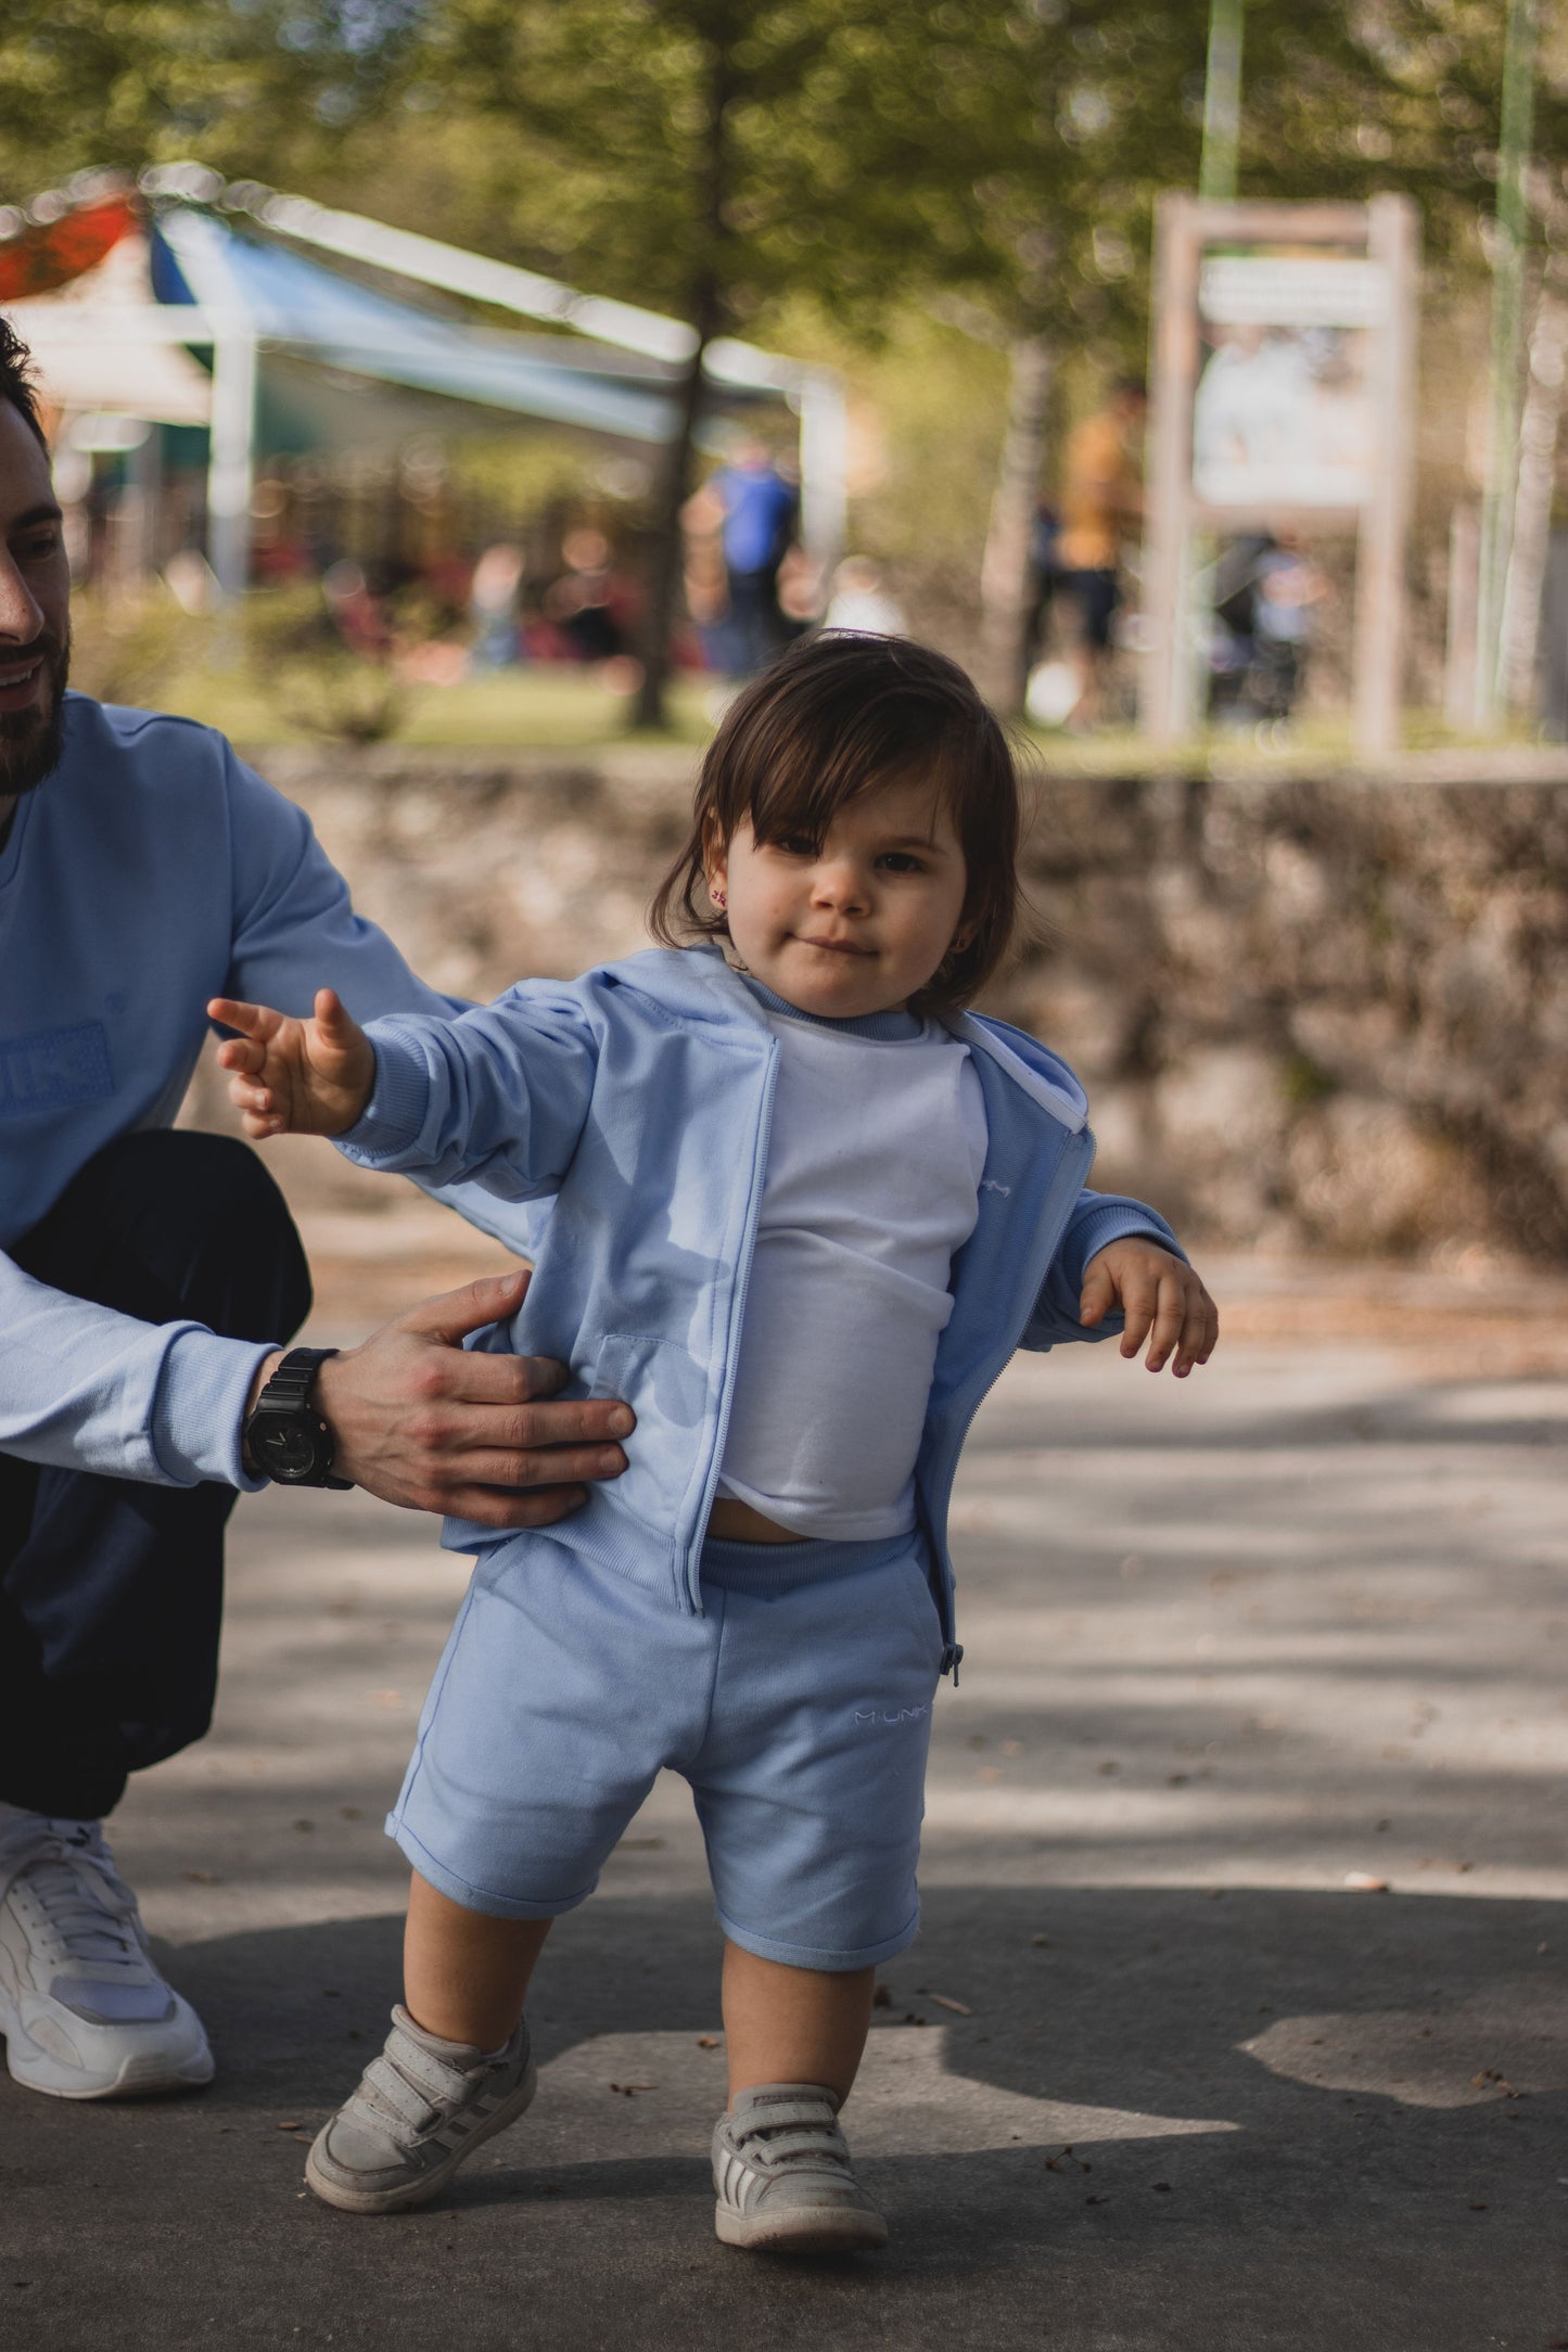
[[[364,913],[491,995],[644,943],[691,753],[263,753]],[[987,1007],[1088,1084],[1098,1181],[1239,1247],[1568,1258],[1568,788],[1030,788]]]

